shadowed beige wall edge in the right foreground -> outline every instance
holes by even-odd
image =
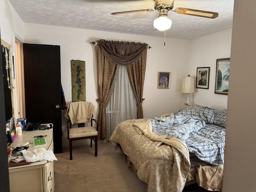
[[[255,191],[256,1],[234,1],[223,192]]]

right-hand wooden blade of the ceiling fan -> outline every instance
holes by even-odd
[[[214,19],[219,16],[219,14],[216,12],[188,9],[188,8],[182,8],[182,7],[176,8],[174,12],[179,14],[184,14],[184,15],[192,15],[192,16],[205,17],[210,19]]]

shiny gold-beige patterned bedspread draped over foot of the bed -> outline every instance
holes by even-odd
[[[198,166],[190,169],[186,146],[176,138],[157,137],[150,119],[126,120],[116,126],[110,142],[124,153],[137,170],[148,192],[182,192],[185,182],[195,180],[207,190],[222,189],[223,168]]]

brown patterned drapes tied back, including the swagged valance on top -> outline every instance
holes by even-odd
[[[99,139],[106,138],[106,108],[114,89],[119,65],[125,65],[136,98],[137,118],[143,118],[143,86],[146,71],[146,43],[98,40],[96,44],[98,74]]]

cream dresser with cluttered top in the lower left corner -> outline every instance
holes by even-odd
[[[23,132],[14,142],[16,146],[22,146],[26,142],[33,143],[34,136],[47,135],[46,150],[53,151],[52,129],[32,132]],[[33,150],[38,147],[30,147]],[[54,192],[54,162],[47,160],[31,162],[28,165],[9,167],[10,192]]]

